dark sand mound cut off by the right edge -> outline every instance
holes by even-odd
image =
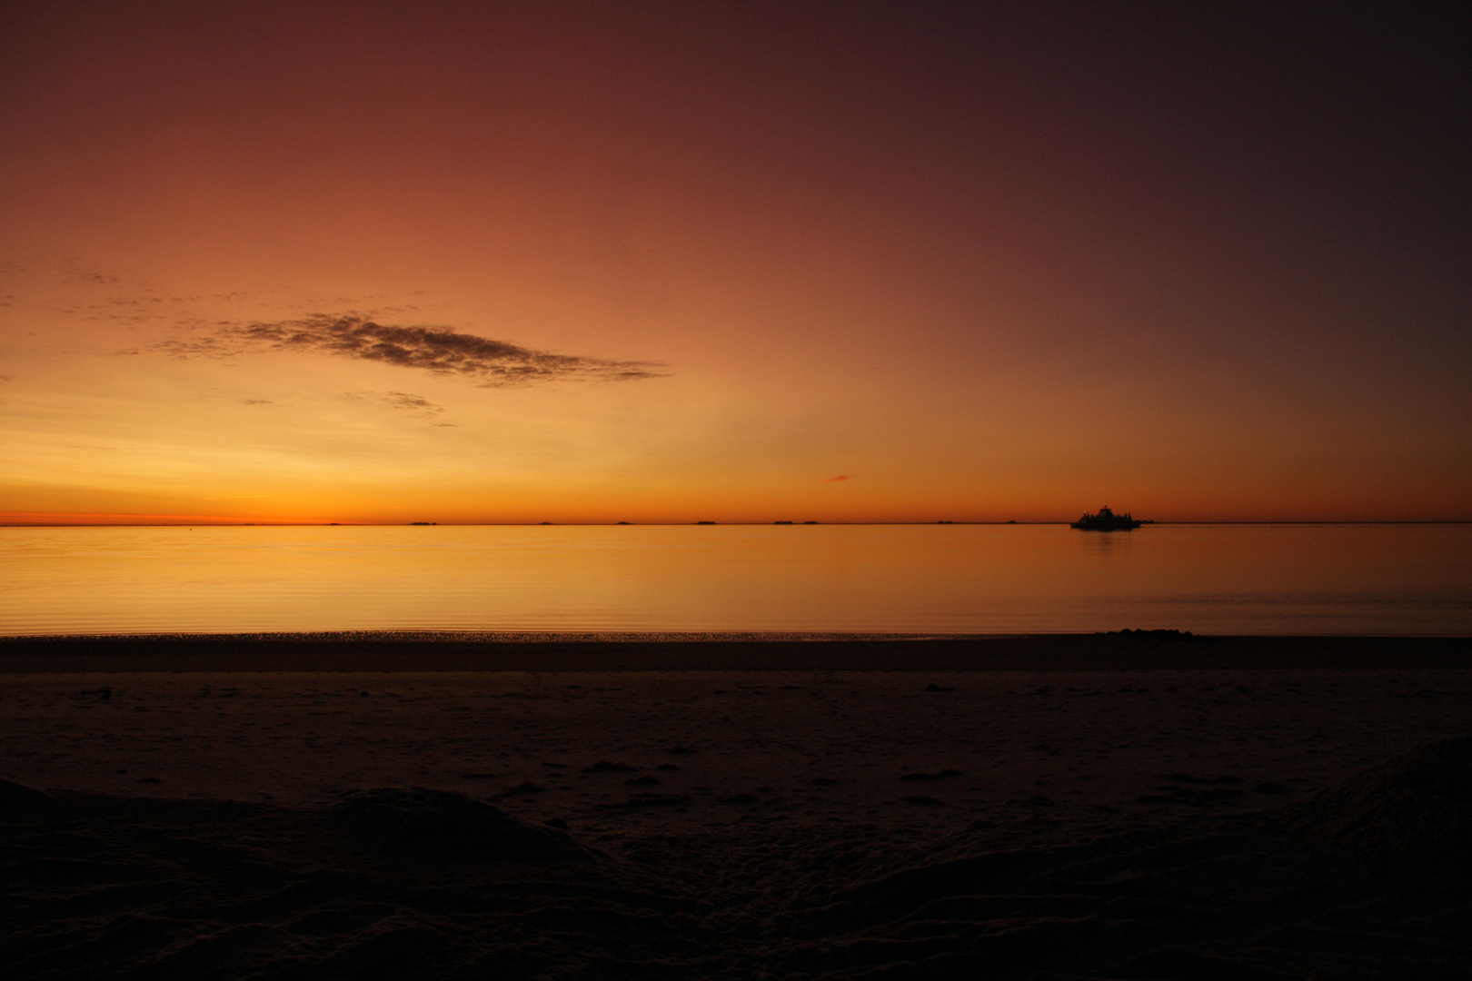
[[[1472,737],[1423,743],[1316,793],[1294,831],[1367,875],[1444,878],[1472,868]]]

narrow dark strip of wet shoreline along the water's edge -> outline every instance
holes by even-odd
[[[0,637],[0,674],[1472,668],[1472,637],[119,634]]]

